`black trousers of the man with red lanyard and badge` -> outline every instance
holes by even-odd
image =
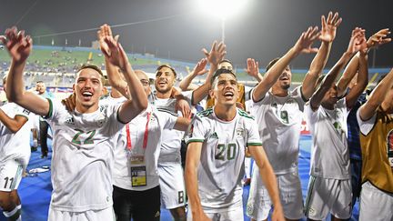
[[[144,191],[114,186],[113,201],[117,221],[159,221],[161,191],[156,186]]]

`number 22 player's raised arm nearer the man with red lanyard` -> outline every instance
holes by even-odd
[[[111,36],[106,36],[104,42],[107,45],[107,51],[103,50],[106,59],[122,71],[130,98],[120,107],[118,117],[121,122],[129,122],[139,115],[147,107],[147,96],[144,88],[137,78],[132,66],[128,62],[126,52],[122,45],[116,42]]]

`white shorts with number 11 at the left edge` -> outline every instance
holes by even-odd
[[[19,186],[25,166],[15,159],[0,163],[0,191],[11,192]]]

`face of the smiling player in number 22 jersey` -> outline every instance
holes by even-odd
[[[104,94],[101,75],[92,68],[82,69],[76,77],[74,92],[76,93],[76,106],[82,105],[86,110],[98,105],[99,98]]]

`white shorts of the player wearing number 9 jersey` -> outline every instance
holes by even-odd
[[[276,176],[284,216],[288,219],[300,219],[303,216],[303,196],[297,172]],[[247,202],[247,216],[265,220],[272,205],[267,188],[259,175],[259,168],[255,166]]]

